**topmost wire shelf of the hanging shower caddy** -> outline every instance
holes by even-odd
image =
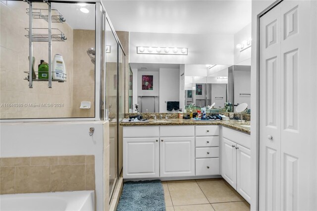
[[[27,8],[26,10],[26,14],[30,15],[29,8]],[[32,16],[34,19],[43,19],[46,22],[49,22],[48,9],[32,9]],[[52,23],[63,23],[65,21],[65,18],[57,9],[52,9]]]

